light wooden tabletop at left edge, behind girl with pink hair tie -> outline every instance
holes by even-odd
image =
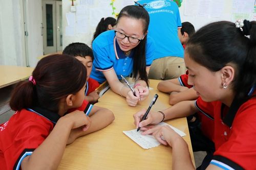
[[[26,80],[34,68],[14,65],[0,65],[0,88]]]

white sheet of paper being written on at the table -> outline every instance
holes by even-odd
[[[168,125],[164,122],[158,124],[157,126],[165,126]],[[175,132],[177,132],[181,137],[185,136],[186,134],[179,129],[168,125],[170,128],[172,128]],[[141,135],[141,131],[137,132],[137,129],[131,130],[131,131],[123,131],[123,133],[130,137],[133,141],[135,141],[137,144],[139,144],[143,149],[150,149],[153,147],[158,147],[160,143],[155,139],[152,135]]]

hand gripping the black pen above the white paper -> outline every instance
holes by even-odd
[[[146,113],[146,109],[142,109],[133,115],[134,124],[136,128],[140,127],[140,130],[142,131],[152,128],[152,126],[150,125],[159,124],[163,119],[163,115],[161,113],[150,111],[147,114],[147,118],[142,122],[140,122],[145,113]]]

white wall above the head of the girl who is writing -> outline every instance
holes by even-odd
[[[193,23],[196,30],[199,28],[207,25],[210,22],[220,21],[220,20],[227,20],[227,21],[236,21],[237,19],[248,19],[248,20],[255,20],[256,13],[236,13],[237,11],[233,9],[233,2],[239,2],[242,0],[206,0],[206,1],[195,1],[195,0],[183,0],[181,7],[179,8],[181,21],[189,21]],[[191,9],[191,4],[189,2],[195,2],[196,5],[193,8],[199,7],[209,7],[208,9],[197,9],[193,16],[187,15],[185,12],[186,10]],[[253,3],[253,0],[243,1],[244,3]],[[208,5],[209,4],[209,5]],[[205,6],[204,6],[205,5]],[[243,3],[241,3],[243,5]],[[190,8],[189,8],[190,6]],[[244,7],[244,6],[243,6]],[[253,9],[253,4],[250,6]],[[241,6],[242,8],[242,6]],[[207,16],[203,16],[205,12],[209,12]],[[241,11],[246,11],[245,9],[241,9]],[[201,13],[201,14],[200,14]],[[218,16],[219,15],[219,16]]]

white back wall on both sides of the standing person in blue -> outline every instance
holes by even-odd
[[[243,19],[249,19],[249,20],[255,20],[256,19],[256,13],[249,13],[249,14],[234,14],[232,5],[233,2],[239,2],[242,3],[248,3],[253,0],[183,0],[181,3],[180,10],[180,16],[181,21],[189,21],[193,23],[195,26],[195,29],[198,30],[202,26],[206,25],[207,23],[213,22],[213,21],[219,21],[219,20],[229,20],[229,21],[235,21],[239,17]],[[73,36],[67,36],[65,28],[68,26],[67,19],[66,19],[66,13],[70,12],[70,6],[71,1],[69,0],[62,0],[62,29],[63,29],[63,47],[67,46],[71,42],[83,42],[87,43],[88,45],[91,45],[91,40],[93,37],[93,33],[96,29],[96,25],[99,22],[101,17],[108,17],[112,15],[112,7],[110,6],[111,0],[77,0],[75,1],[75,6],[81,5],[81,3],[87,2],[86,4],[86,25],[88,32],[83,34],[78,34],[76,32],[75,28],[75,34]],[[185,13],[185,10],[190,6],[190,4],[186,7],[186,3],[193,2],[196,3],[196,7],[202,7],[203,5],[210,3],[210,8],[212,13],[215,13],[215,15],[221,11],[221,15],[219,17],[216,17],[214,15],[202,16],[202,13],[204,12],[204,7],[201,8],[201,11],[198,10],[193,16],[189,16]],[[124,6],[126,5],[133,5],[134,1],[132,0],[116,0],[114,1],[114,7],[116,8],[115,12],[119,12]],[[207,5],[206,5],[207,6]],[[185,8],[186,7],[186,8]],[[212,8],[214,7],[214,8]],[[218,8],[216,7],[222,7],[222,10],[218,11]],[[253,8],[253,6],[252,6]],[[199,14],[201,12],[201,14]],[[76,15],[76,13],[75,13]],[[77,16],[76,16],[76,22],[77,22]],[[77,26],[77,25],[76,25]],[[75,27],[76,27],[75,26]]]

